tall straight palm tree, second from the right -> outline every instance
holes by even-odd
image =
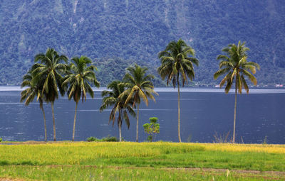
[[[192,55],[193,57],[189,57]],[[182,82],[182,87],[184,87],[185,82],[188,82],[187,77],[194,79],[195,72],[193,64],[199,65],[199,60],[194,57],[195,50],[188,46],[183,40],[178,40],[170,42],[164,51],[158,53],[161,65],[158,67],[157,71],[165,79],[167,77],[167,86],[170,81],[172,81],[173,88],[177,84],[178,88],[178,138],[181,142],[180,137],[180,79]]]

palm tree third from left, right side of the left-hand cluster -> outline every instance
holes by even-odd
[[[73,57],[71,64],[68,67],[68,75],[64,77],[63,87],[68,87],[68,99],[73,97],[73,100],[76,102],[76,111],[74,114],[73,121],[73,133],[72,133],[72,141],[74,141],[74,136],[76,132],[76,112],[79,99],[82,97],[82,102],[84,99],[86,100],[86,92],[90,94],[90,96],[94,97],[93,89],[90,84],[94,84],[96,87],[100,86],[100,83],[97,81],[95,77],[96,67],[94,65],[88,66],[92,61],[85,56],[81,57]]]

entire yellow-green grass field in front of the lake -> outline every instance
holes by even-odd
[[[284,145],[20,143],[0,156],[0,178],[23,180],[285,180]]]

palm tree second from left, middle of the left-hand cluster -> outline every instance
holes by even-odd
[[[32,84],[43,79],[42,94],[46,97],[46,102],[51,102],[51,111],[53,114],[53,141],[56,141],[56,120],[54,118],[53,104],[58,99],[58,89],[61,95],[64,94],[64,89],[61,87],[63,77],[61,75],[66,72],[66,65],[61,62],[67,62],[66,55],[58,55],[52,48],[48,48],[46,53],[36,55],[36,68],[33,70],[35,77],[31,80]]]

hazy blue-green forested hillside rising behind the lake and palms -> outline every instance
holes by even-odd
[[[284,20],[283,0],[2,0],[0,84],[20,84],[47,48],[92,58],[102,86],[133,62],[157,75],[157,53],[179,38],[200,61],[195,84],[218,84],[216,57],[239,40],[261,65],[260,86],[285,84]],[[155,84],[163,85],[158,76]]]

